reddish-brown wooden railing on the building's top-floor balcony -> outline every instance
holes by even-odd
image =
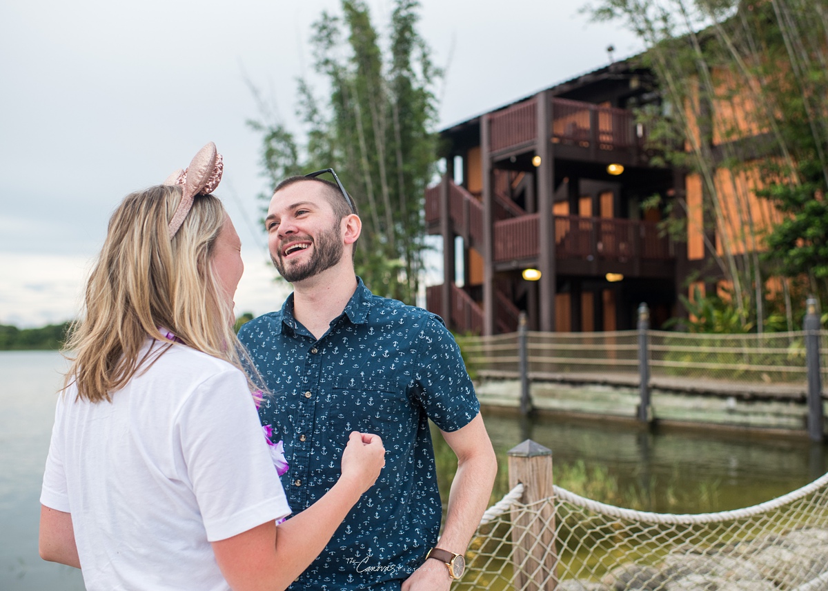
[[[641,147],[635,116],[623,108],[601,107],[570,99],[550,99],[552,142],[599,150]],[[537,97],[514,104],[489,118],[492,152],[530,147],[537,141]]]

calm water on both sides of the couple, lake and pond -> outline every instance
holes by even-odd
[[[84,589],[79,571],[37,555],[43,465],[64,361],[51,352],[0,352],[0,589]],[[485,413],[503,469],[493,499],[508,490],[506,452],[531,437],[553,451],[556,483],[599,501],[659,512],[747,507],[826,472],[823,448],[786,440],[706,433],[650,435],[618,425],[522,424]],[[450,449],[437,445],[441,488],[453,473]],[[454,464],[456,465],[456,464]]]

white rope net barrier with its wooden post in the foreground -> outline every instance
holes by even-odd
[[[674,515],[518,484],[484,515],[452,589],[828,591],[828,474],[754,507]]]

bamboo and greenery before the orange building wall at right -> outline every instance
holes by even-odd
[[[768,324],[773,274],[804,279],[825,300],[828,0],[599,0],[590,11],[648,47],[643,60],[673,106],[651,137],[700,180],[715,228],[707,255],[724,262],[743,328]],[[780,286],[790,324],[798,288]]]

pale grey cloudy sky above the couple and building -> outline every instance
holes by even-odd
[[[438,65],[440,127],[640,50],[570,0],[421,0]],[[391,0],[368,0],[384,27]],[[0,3],[0,324],[72,318],[124,195],[224,155],[217,195],[243,242],[237,313],[277,308],[256,195],[260,115],[250,84],[296,132],[310,23],[338,0],[4,0]],[[311,77],[312,80],[312,77]],[[325,163],[320,163],[320,167]],[[347,180],[344,180],[347,185]],[[359,199],[359,195],[357,195]]]

